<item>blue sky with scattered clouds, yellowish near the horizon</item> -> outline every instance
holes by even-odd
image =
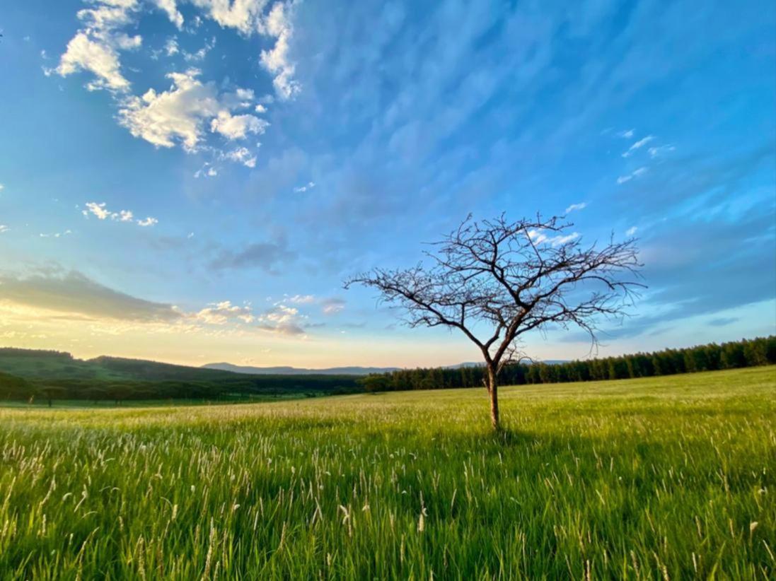
[[[2,346],[476,361],[342,282],[502,212],[639,239],[598,354],[776,333],[774,2],[28,0],[0,33]]]

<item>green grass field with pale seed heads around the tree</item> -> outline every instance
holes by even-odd
[[[776,368],[0,410],[2,579],[773,579]]]

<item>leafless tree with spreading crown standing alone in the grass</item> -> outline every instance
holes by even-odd
[[[490,420],[499,429],[498,376],[525,358],[518,349],[531,330],[580,327],[597,344],[597,323],[625,313],[639,278],[636,240],[584,246],[562,217],[509,222],[471,216],[424,254],[432,264],[356,275],[387,303],[404,307],[410,327],[451,327],[482,353]],[[484,333],[484,334],[482,334]],[[478,337],[477,334],[482,334]]]

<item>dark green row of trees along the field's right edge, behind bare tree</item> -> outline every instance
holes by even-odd
[[[636,353],[618,357],[508,365],[499,377],[501,385],[526,383],[587,382],[605,379],[629,379],[734,369],[776,363],[776,336],[757,337],[730,343],[698,345],[684,349],[665,349],[654,353]],[[408,389],[446,389],[482,387],[484,368],[418,368],[367,375],[358,380],[366,391],[405,391]]]

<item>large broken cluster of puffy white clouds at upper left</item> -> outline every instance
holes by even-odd
[[[235,93],[220,93],[214,82],[200,81],[200,71],[189,69],[168,74],[171,86],[157,92],[148,89],[140,95],[131,92],[130,81],[124,76],[120,54],[137,49],[141,36],[129,36],[126,30],[140,22],[141,9],[152,6],[165,12],[178,28],[184,29],[184,17],[178,10],[181,0],[88,0],[90,8],[78,12],[81,26],[68,43],[57,67],[44,68],[46,74],[67,76],[78,71],[91,72],[87,87],[105,88],[113,93],[118,105],[117,119],[135,137],[147,140],[157,147],[175,147],[181,144],[187,152],[198,150],[205,139],[206,128],[229,140],[244,139],[249,133],[264,133],[269,123],[254,115],[234,115],[237,109],[247,109],[256,103],[251,89],[238,88]],[[263,50],[259,61],[272,74],[275,92],[289,99],[300,90],[293,79],[294,64],[289,58],[289,40],[293,33],[291,12],[293,2],[275,2],[269,8],[268,0],[189,0],[210,19],[222,27],[236,29],[243,36],[259,34],[275,43]],[[267,11],[268,12],[265,12]],[[192,16],[185,30],[196,29],[201,19]],[[151,58],[162,52],[168,56],[182,54],[186,61],[202,61],[213,48],[215,37],[194,53],[186,53],[171,36],[161,50],[154,50]],[[255,105],[255,112],[266,112],[265,103],[272,95],[265,95]],[[207,123],[207,125],[206,125]],[[248,157],[246,163],[253,157]],[[255,161],[253,162],[255,164]]]

